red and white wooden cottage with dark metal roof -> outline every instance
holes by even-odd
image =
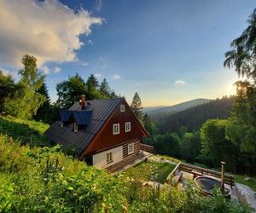
[[[76,102],[60,111],[45,135],[50,141],[76,147],[80,160],[114,170],[140,157],[140,143],[148,136],[124,98]]]

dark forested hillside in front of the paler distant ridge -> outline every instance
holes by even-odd
[[[233,106],[234,96],[210,101],[191,107],[182,112],[156,119],[160,133],[178,132],[182,126],[189,131],[199,130],[207,119],[228,118]]]

